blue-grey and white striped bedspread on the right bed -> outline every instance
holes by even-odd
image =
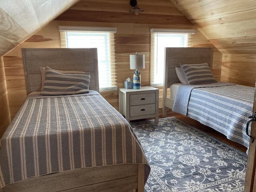
[[[182,90],[186,96],[182,94]],[[188,94],[187,88],[181,86],[172,110],[182,113],[186,109],[185,115],[249,148],[250,138],[246,135],[246,124],[250,120],[248,117],[252,116],[254,91],[253,87],[230,84],[200,88],[193,86]]]

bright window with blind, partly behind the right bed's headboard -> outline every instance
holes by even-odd
[[[195,30],[151,29],[150,86],[163,86],[164,48],[188,47]]]

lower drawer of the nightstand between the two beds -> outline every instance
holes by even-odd
[[[155,112],[156,112],[155,104],[130,106],[130,116],[131,117],[155,114]]]

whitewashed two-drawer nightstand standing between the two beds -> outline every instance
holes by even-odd
[[[145,86],[140,89],[119,88],[119,112],[126,120],[155,118],[158,123],[158,98],[159,90]]]

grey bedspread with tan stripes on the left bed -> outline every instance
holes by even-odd
[[[29,95],[0,140],[0,187],[65,170],[150,167],[130,124],[96,91]]]

